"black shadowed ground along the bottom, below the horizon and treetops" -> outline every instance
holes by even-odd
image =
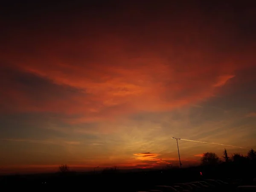
[[[219,168],[218,168],[219,169]],[[201,167],[152,172],[78,173],[52,175],[5,176],[0,178],[1,191],[85,191],[137,192],[161,189],[162,192],[235,192],[239,185],[253,185],[253,170],[218,170]],[[227,172],[228,171],[228,172]],[[202,175],[201,175],[201,173]],[[211,179],[211,180],[207,180]],[[213,181],[221,180],[221,181]],[[205,181],[201,183],[192,183]],[[187,183],[185,186],[181,183]],[[190,185],[190,188],[188,187]],[[208,185],[208,186],[207,186]],[[172,186],[161,188],[157,186]],[[176,190],[176,191],[175,191]]]

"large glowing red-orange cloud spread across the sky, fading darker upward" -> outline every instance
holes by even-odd
[[[232,50],[228,51],[223,47],[223,42],[228,45],[237,39],[230,37],[229,32],[236,26],[218,30],[225,29],[226,23],[211,19],[211,25],[201,33],[198,26],[204,21],[200,20],[200,10],[193,12],[193,17],[198,18],[193,24],[188,17],[184,20],[184,15],[176,13],[180,21],[173,22],[175,27],[169,26],[169,20],[163,20],[165,14],[163,11],[159,15],[161,22],[148,20],[139,26],[137,30],[149,32],[143,36],[137,30],[122,27],[117,30],[119,33],[107,29],[104,32],[96,26],[81,28],[81,20],[65,26],[65,30],[77,31],[72,38],[47,33],[47,29],[44,33],[19,29],[19,34],[26,34],[22,37],[15,35],[16,30],[10,30],[10,37],[5,38],[6,49],[0,55],[2,61],[20,73],[54,84],[60,94],[52,94],[55,89],[36,90],[38,95],[44,95],[40,100],[26,83],[12,81],[6,73],[1,77],[4,112],[77,115],[64,119],[76,124],[140,111],[171,111],[215,96],[218,88],[235,79],[240,69],[251,67],[252,51],[241,53],[240,49],[230,47]],[[185,23],[186,29],[179,23]],[[87,34],[87,29],[94,30],[95,35]],[[248,43],[247,47],[252,45]],[[222,49],[227,51],[221,52]],[[63,91],[67,87],[75,91]]]

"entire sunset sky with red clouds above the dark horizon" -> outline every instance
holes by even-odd
[[[3,3],[0,174],[256,148],[255,5],[177,2]]]

